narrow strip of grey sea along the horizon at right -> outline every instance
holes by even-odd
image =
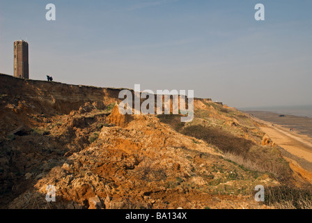
[[[276,106],[276,107],[242,107],[237,108],[240,111],[261,111],[261,112],[275,112],[278,114],[304,116],[312,118],[312,105],[299,106]]]

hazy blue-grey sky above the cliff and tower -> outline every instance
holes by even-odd
[[[311,10],[311,0],[0,0],[0,73],[13,75],[22,39],[31,79],[194,90],[238,108],[312,105]]]

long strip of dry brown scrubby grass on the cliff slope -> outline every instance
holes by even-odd
[[[181,133],[216,146],[225,154],[224,158],[236,162],[246,170],[269,172],[280,180],[288,180],[290,176],[289,164],[277,148],[258,146],[253,141],[236,137],[219,128],[202,125],[187,126]]]

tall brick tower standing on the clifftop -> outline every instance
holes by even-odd
[[[24,40],[14,42],[14,77],[29,79],[28,43]]]

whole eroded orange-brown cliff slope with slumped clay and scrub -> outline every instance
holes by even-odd
[[[120,89],[7,75],[0,86],[1,208],[267,208],[254,186],[292,177],[256,123],[211,100],[181,123],[119,114]]]

